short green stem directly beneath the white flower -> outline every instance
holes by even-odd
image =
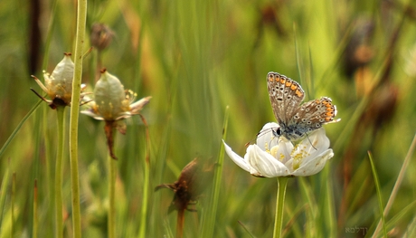
[[[283,225],[283,206],[285,205],[286,186],[288,185],[287,176],[278,177],[278,197],[276,199],[276,217],[274,221],[273,238],[281,237]]]

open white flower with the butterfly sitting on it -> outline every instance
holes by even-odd
[[[312,176],[321,171],[328,159],[334,157],[329,148],[325,129],[317,129],[303,138],[296,146],[284,137],[275,137],[272,130],[279,128],[267,123],[250,145],[244,157],[240,157],[224,142],[225,152],[239,167],[253,176]]]

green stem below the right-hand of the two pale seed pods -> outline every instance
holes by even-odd
[[[109,155],[109,238],[116,237],[116,176],[117,160]]]

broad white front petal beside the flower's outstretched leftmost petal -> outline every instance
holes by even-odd
[[[278,159],[271,156],[268,152],[263,151],[257,145],[251,145],[247,148],[244,159],[250,164],[254,171],[258,171],[261,176],[288,176],[289,170]],[[251,173],[253,174],[253,173]]]

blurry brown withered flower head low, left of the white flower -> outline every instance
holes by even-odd
[[[203,190],[207,187],[206,181],[210,176],[213,176],[213,165],[208,165],[203,162],[202,158],[196,157],[184,167],[174,184],[156,186],[155,191],[165,187],[175,192],[169,212],[174,209],[178,211],[190,210],[188,205],[196,202],[203,194]]]

